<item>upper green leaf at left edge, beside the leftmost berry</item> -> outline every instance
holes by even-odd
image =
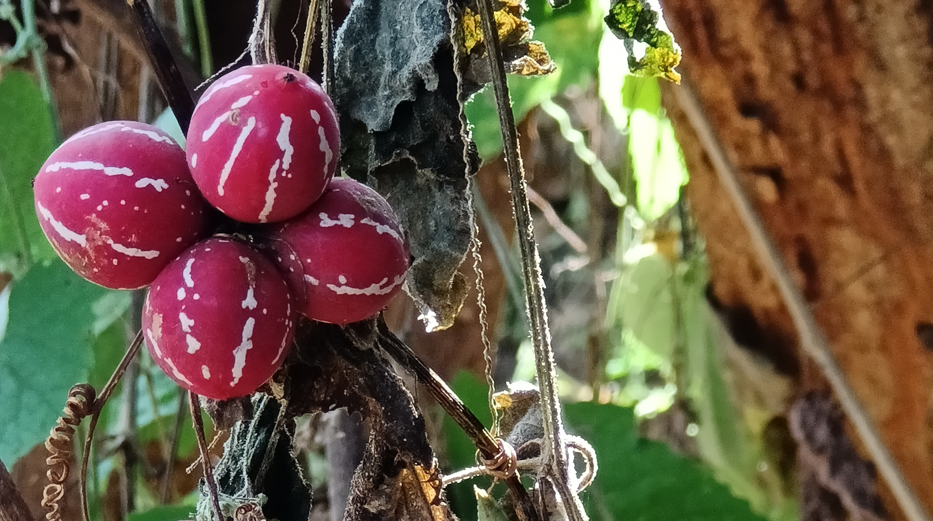
[[[35,218],[35,173],[55,149],[49,106],[22,71],[0,76],[0,271],[19,273],[55,256]]]

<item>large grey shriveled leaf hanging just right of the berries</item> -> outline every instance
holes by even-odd
[[[478,166],[460,123],[450,27],[443,0],[359,0],[334,49],[341,166],[398,214],[413,257],[405,288],[429,328],[450,326],[466,296],[466,176]]]

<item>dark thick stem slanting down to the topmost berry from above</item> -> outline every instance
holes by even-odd
[[[182,132],[187,134],[191,113],[194,112],[194,100],[178,70],[178,64],[174,61],[165,36],[159,29],[159,23],[152,15],[152,9],[146,0],[126,0],[126,3],[132,7],[136,29],[143,38],[146,54],[149,56],[152,69],[156,72],[156,77],[159,78],[162,94],[172,107],[178,126],[181,127]]]

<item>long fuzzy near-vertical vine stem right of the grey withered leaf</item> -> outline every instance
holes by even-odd
[[[528,323],[531,327],[531,340],[535,348],[537,383],[541,392],[541,420],[544,428],[544,446],[542,447],[543,465],[541,477],[553,481],[564,499],[567,517],[570,521],[587,519],[577,493],[569,486],[570,472],[566,446],[564,446],[564,425],[561,418],[561,403],[555,381],[556,368],[554,353],[550,347],[548,329],[548,308],[544,300],[544,281],[541,278],[541,261],[537,252],[535,226],[532,222],[531,208],[528,205],[522,154],[519,150],[518,129],[508,96],[506,68],[502,62],[502,49],[499,46],[499,34],[495,25],[492,0],[477,0],[480,12],[483,41],[486,44],[486,56],[493,77],[495,105],[499,116],[499,128],[502,130],[503,149],[508,169],[508,185],[512,198],[512,213],[518,231],[519,248],[522,254],[522,279],[525,286],[525,306]]]

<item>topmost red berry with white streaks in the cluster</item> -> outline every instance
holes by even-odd
[[[188,165],[204,198],[244,223],[307,209],[334,176],[340,149],[337,113],[324,90],[271,63],[217,79],[188,130]]]

